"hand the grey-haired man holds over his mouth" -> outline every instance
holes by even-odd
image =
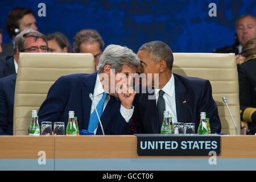
[[[130,86],[123,86],[122,92],[118,93],[119,100],[121,101],[121,104],[126,109],[131,109],[133,106],[133,100],[135,97],[135,90]]]

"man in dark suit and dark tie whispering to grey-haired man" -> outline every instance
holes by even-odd
[[[200,112],[206,112],[211,132],[220,133],[220,118],[208,80],[172,73],[174,57],[170,47],[163,42],[143,44],[138,56],[147,81],[147,92],[137,94],[134,100],[133,118],[137,133],[159,134],[164,110],[170,112],[174,123],[195,123],[196,131]]]

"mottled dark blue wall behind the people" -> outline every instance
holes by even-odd
[[[39,17],[38,3],[46,4],[46,17]],[[209,3],[217,5],[217,17],[209,17]],[[82,28],[100,32],[105,44],[121,44],[137,52],[151,40],[166,42],[174,52],[212,52],[234,43],[235,20],[242,14],[256,15],[255,0],[34,0],[0,1],[3,42],[6,16],[15,7],[35,11],[39,31],[61,31],[72,38]]]

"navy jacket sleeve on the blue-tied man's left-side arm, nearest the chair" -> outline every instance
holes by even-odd
[[[63,77],[60,77],[49,89],[46,100],[39,109],[39,122],[60,121],[67,101],[68,84]]]

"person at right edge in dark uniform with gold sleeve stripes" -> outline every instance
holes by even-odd
[[[256,133],[256,39],[243,47],[244,60],[238,65],[241,125]]]

